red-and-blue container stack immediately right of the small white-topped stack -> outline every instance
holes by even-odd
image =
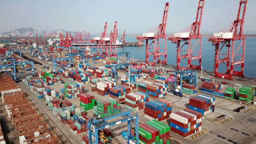
[[[125,94],[129,94],[131,92],[131,88],[121,85],[117,87],[112,87],[109,89],[110,98],[116,98],[119,102],[124,102]]]

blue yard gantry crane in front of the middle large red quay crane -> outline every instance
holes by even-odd
[[[174,71],[175,80],[174,80],[174,94],[178,96],[182,95],[182,78],[188,77],[189,85],[195,85],[197,87],[197,71],[186,70],[186,71]],[[177,79],[180,79],[180,84],[177,83]]]

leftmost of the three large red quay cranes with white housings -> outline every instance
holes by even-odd
[[[157,63],[167,64],[167,45],[166,45],[166,24],[167,24],[167,17],[169,11],[169,2],[165,4],[165,9],[163,11],[163,18],[161,24],[156,28],[148,31],[147,33],[143,33],[142,36],[136,37],[139,41],[146,40],[146,63],[148,65],[156,65],[156,57]],[[151,43],[149,44],[149,40]],[[164,42],[164,46],[160,47],[161,44]],[[148,58],[150,56],[154,56],[154,61],[149,62]],[[164,57],[164,60],[160,60],[160,56]]]

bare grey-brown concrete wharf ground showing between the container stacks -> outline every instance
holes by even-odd
[[[25,53],[25,52],[23,52]],[[27,52],[29,53],[29,52]],[[29,54],[26,54],[26,56],[30,57]],[[41,62],[43,65],[35,65],[35,68],[37,68],[37,70],[45,70],[43,68],[44,65],[48,65],[50,67],[50,69],[52,69],[52,64],[47,63],[45,61],[42,61],[40,59],[37,59],[35,57],[30,57],[31,59],[33,59],[34,61],[39,61]],[[92,61],[91,59],[87,59],[87,61],[89,61],[90,65],[95,66],[95,65],[105,65],[104,63],[97,61],[98,64],[93,63],[94,61]],[[121,57],[121,61],[126,61],[126,57]],[[134,62],[137,63],[145,63],[145,61],[143,60],[138,60],[138,59],[134,59]],[[172,65],[161,65],[164,68],[171,68],[172,70],[175,70],[176,67],[172,66]],[[151,68],[156,68],[156,67],[160,67],[160,64],[156,64],[156,66],[150,66]],[[57,66],[56,69],[58,70],[59,67]],[[198,74],[201,73],[201,71],[197,71]],[[118,72],[118,76],[122,76],[125,75],[124,72]],[[202,75],[203,76],[213,76],[213,72],[209,72],[209,71],[202,71]],[[20,76],[20,74],[19,74]],[[18,76],[18,78],[19,78]],[[65,83],[69,83],[69,82],[73,82],[70,79],[64,78],[60,75],[58,75],[59,78],[62,78],[63,81]],[[22,78],[22,76],[20,76],[20,78]],[[95,76],[93,76],[93,78],[96,78]],[[233,76],[233,81],[230,81],[231,85],[234,85],[235,83],[241,83],[243,85],[255,85],[256,84],[256,79],[253,78],[240,78],[237,76]],[[219,78],[215,78],[215,82],[216,83],[220,83],[221,81],[227,81],[225,79],[219,79]],[[117,85],[121,84],[121,80],[119,79],[117,81]],[[20,83],[20,85],[24,85],[24,83]],[[200,83],[198,83],[198,85],[200,85]],[[61,85],[54,85],[54,86],[50,86],[54,89],[59,90],[60,88],[63,87],[63,84]],[[24,88],[24,89],[28,89]],[[91,83],[85,84],[85,89],[87,91],[91,92]],[[134,89],[132,91],[137,91],[137,89]],[[222,90],[223,92],[223,90]],[[96,100],[106,100],[108,98],[108,96],[100,96],[98,95],[96,92],[93,92],[95,94],[95,99]],[[198,92],[197,94],[202,94],[201,92]],[[164,100],[167,100],[169,102],[173,103],[173,112],[179,111],[181,109],[184,109],[186,107],[188,107],[188,102],[189,102],[189,98],[191,96],[197,95],[197,94],[193,94],[193,95],[189,95],[189,94],[184,94],[183,97],[178,97],[173,95],[170,92],[167,92],[167,96],[164,97]],[[35,94],[29,94],[30,97],[35,97]],[[69,99],[70,102],[74,103],[74,105],[76,105],[76,107],[79,107],[79,98],[73,98],[73,99]],[[150,101],[152,101],[152,98],[150,98]],[[40,100],[35,100],[35,102],[38,103],[44,103],[41,102]],[[40,106],[40,105],[39,105]],[[40,106],[41,107],[41,106]],[[124,107],[124,104],[121,103],[120,107]],[[247,111],[248,109],[245,109],[245,107],[247,107],[248,109],[250,109],[250,111],[248,113],[244,113],[245,111]],[[45,113],[50,113],[48,112],[48,107],[43,106],[41,107],[41,109],[46,109]],[[93,116],[93,111],[87,111],[87,113],[91,116]],[[139,113],[139,123],[145,123],[148,121],[147,118],[144,117],[144,110],[140,110],[138,111]],[[223,117],[227,116],[227,119],[224,119]],[[171,144],[173,143],[209,143],[209,140],[211,142],[211,144],[230,144],[230,142],[228,140],[232,140],[234,142],[237,143],[256,143],[256,136],[254,135],[254,133],[256,133],[256,125],[253,122],[249,122],[248,119],[253,118],[256,119],[256,111],[254,110],[254,105],[251,105],[249,103],[239,103],[238,101],[234,101],[234,100],[228,100],[226,98],[221,98],[221,97],[215,97],[215,112],[207,114],[206,116],[204,116],[204,120],[202,120],[202,131],[205,131],[206,133],[199,135],[196,138],[192,138],[191,137],[187,137],[187,138],[183,138],[180,135],[176,135],[175,133],[171,132],[170,138],[171,138]],[[54,121],[55,119],[52,118],[56,116],[54,116],[52,113],[50,113],[49,118]],[[232,120],[231,120],[232,118]],[[225,120],[230,120],[228,122],[226,122],[225,124],[223,124],[223,122]],[[56,120],[55,120],[56,121]],[[169,124],[169,120],[163,120],[162,122]],[[56,123],[59,123],[59,120],[56,121]],[[62,131],[65,131],[64,133],[67,133],[67,138],[70,139],[74,139],[77,138],[77,140],[79,141],[79,143],[82,142],[82,135],[86,135],[87,132],[82,133],[82,135],[72,135],[69,131],[67,131],[68,126],[64,126],[63,124],[61,124],[61,126],[59,126],[58,124],[56,124],[56,127],[58,127],[58,129],[60,129],[61,133]],[[239,130],[238,132],[233,131],[231,128],[237,129]],[[61,130],[62,129],[62,130]],[[119,124],[117,126],[113,126],[113,127],[109,127],[109,129],[112,131],[113,134],[113,139],[111,143],[120,143],[120,144],[125,144],[126,140],[124,138],[122,138],[121,136],[121,132],[127,129],[127,125],[126,124]],[[244,135],[243,133],[247,133],[248,135]],[[63,134],[63,133],[62,133]],[[64,135],[64,134],[63,134]],[[194,135],[193,135],[194,136]],[[219,137],[221,136],[221,137]]]

